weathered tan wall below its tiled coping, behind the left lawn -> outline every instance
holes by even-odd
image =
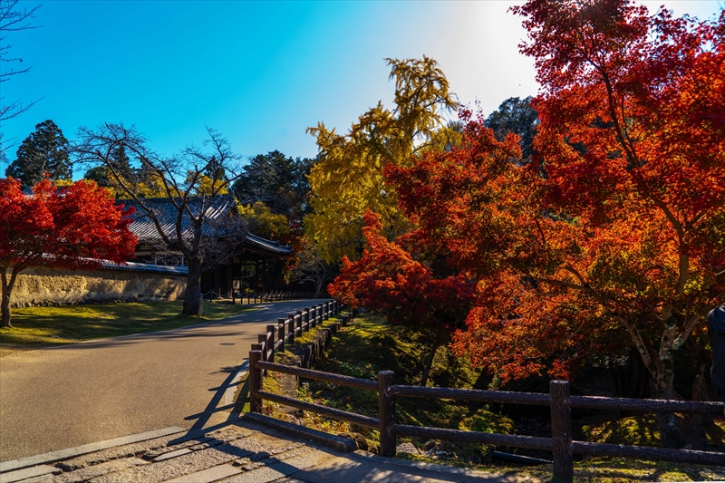
[[[17,276],[10,305],[177,300],[183,298],[186,281],[186,275],[113,268],[77,272],[28,269]]]

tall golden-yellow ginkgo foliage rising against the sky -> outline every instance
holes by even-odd
[[[443,150],[460,140],[442,116],[458,103],[438,63],[428,57],[387,62],[395,80],[393,111],[378,102],[346,135],[324,122],[307,130],[317,138],[320,156],[308,176],[313,212],[304,218],[304,228],[327,261],[359,257],[365,208],[382,216],[389,239],[409,229],[397,194],[383,179],[387,163],[408,164],[423,150]]]

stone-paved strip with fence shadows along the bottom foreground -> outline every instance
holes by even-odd
[[[439,465],[340,453],[246,420],[84,452],[0,463],[0,483],[523,483]],[[166,432],[169,432],[167,430]],[[101,446],[102,443],[99,443]],[[90,447],[89,447],[90,448]],[[87,448],[88,449],[88,448]],[[92,449],[92,448],[90,448]],[[82,453],[82,454],[79,454]],[[28,466],[33,462],[34,466]],[[22,467],[22,468],[21,468]],[[529,480],[530,481],[530,480]]]

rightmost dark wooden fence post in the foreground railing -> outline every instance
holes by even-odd
[[[551,398],[551,440],[554,453],[554,481],[574,479],[572,459],[572,411],[569,405],[569,382],[549,382]]]

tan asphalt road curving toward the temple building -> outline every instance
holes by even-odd
[[[266,324],[319,301],[0,359],[0,461],[227,420],[224,392]],[[233,345],[231,345],[233,344]]]

